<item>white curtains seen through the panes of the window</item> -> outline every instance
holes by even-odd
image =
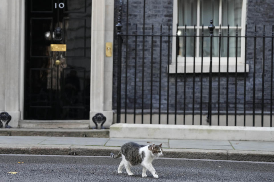
[[[216,26],[241,26],[241,6],[242,0],[221,0],[222,1],[222,22],[219,22],[219,3],[220,0],[200,0],[200,26],[204,24],[204,35],[209,35],[209,30],[207,26],[209,25],[209,20],[213,19],[213,24]],[[178,0],[178,24],[179,26],[194,26],[197,25],[197,0]],[[179,30],[180,35],[184,35],[185,30]],[[196,30],[200,31],[202,35],[202,29]],[[186,30],[187,35],[193,35],[193,29]],[[222,35],[227,35],[227,30],[222,30]],[[214,36],[219,35],[217,29],[214,30]],[[229,30],[230,36],[236,35],[235,29]],[[241,31],[238,30],[238,35],[241,35]],[[201,56],[202,49],[202,38],[200,39],[199,46],[199,56]],[[241,39],[238,38],[238,56],[240,55],[240,42]],[[188,37],[186,43],[186,56],[193,56],[194,38]],[[218,57],[219,52],[219,38],[213,38],[213,57]],[[229,56],[235,57],[235,38],[229,39]],[[184,38],[179,38],[179,55],[184,56]],[[197,55],[197,54],[196,54]],[[204,38],[204,56],[210,55],[210,38]],[[227,56],[227,38],[222,38],[221,40],[221,56]]]

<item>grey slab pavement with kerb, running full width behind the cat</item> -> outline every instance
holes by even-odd
[[[0,136],[0,153],[108,156],[130,141],[163,143],[165,157],[274,162],[274,142],[235,140]]]

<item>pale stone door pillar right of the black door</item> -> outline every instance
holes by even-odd
[[[90,70],[90,127],[92,117],[102,113],[106,117],[104,127],[113,122],[112,111],[112,57],[106,57],[106,42],[112,42],[114,29],[114,0],[92,1],[91,70]],[[112,48],[113,50],[113,48]]]

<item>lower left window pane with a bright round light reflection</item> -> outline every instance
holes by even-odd
[[[185,30],[180,30],[181,33],[178,31],[178,35],[184,35]],[[193,29],[187,29],[186,35],[193,35]],[[193,57],[193,49],[194,49],[194,41],[193,37],[186,37],[186,56]],[[195,44],[196,46],[196,44]],[[185,37],[179,37],[179,53],[180,56],[185,56]]]

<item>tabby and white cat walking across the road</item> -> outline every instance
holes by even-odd
[[[122,173],[122,168],[125,166],[128,175],[132,176],[133,173],[130,171],[130,167],[139,164],[143,166],[142,177],[147,177],[146,170],[148,170],[157,179],[159,176],[151,163],[156,157],[163,156],[162,143],[160,145],[139,145],[128,142],[121,146],[118,154],[110,153],[110,156],[114,159],[122,156],[118,173]]]

